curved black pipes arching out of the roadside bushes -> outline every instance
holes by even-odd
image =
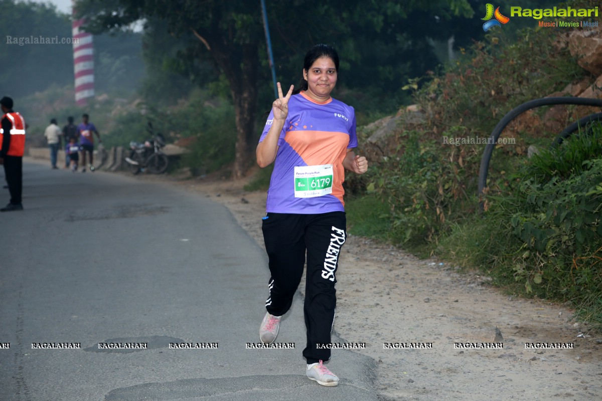
[[[550,105],[581,105],[581,106],[600,106],[602,107],[602,99],[588,99],[586,97],[544,97],[542,99],[529,100],[529,102],[525,102],[522,105],[512,109],[508,112],[504,117],[500,120],[499,123],[495,126],[491,135],[489,136],[489,140],[485,145],[485,150],[483,151],[483,156],[481,157],[481,165],[479,168],[479,212],[483,211],[483,189],[486,187],[487,183],[487,173],[489,171],[489,161],[491,160],[491,155],[495,148],[495,144],[497,143],[497,139],[500,137],[501,132],[506,128],[506,126],[510,123],[510,121],[514,120],[514,118],[518,117],[518,115],[523,114],[527,110],[534,109],[540,106],[550,106]],[[602,114],[602,113],[598,113]],[[571,126],[567,127],[563,130],[562,133],[566,132],[567,136],[571,135],[578,127],[580,121],[591,121],[587,120],[589,117],[598,115],[592,114],[588,117],[582,118],[577,123],[571,124]],[[599,120],[600,118],[598,118]],[[583,123],[582,123],[583,124]],[[572,129],[571,127],[576,126],[576,129]],[[569,130],[571,128],[571,130]],[[562,135],[562,133],[560,135]],[[560,137],[560,135],[556,138]],[[560,140],[562,142],[562,140]],[[555,142],[554,142],[555,143]]]

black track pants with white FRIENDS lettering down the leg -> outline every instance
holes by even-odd
[[[330,359],[329,344],[334,323],[337,296],[335,273],[338,255],[347,237],[344,212],[314,215],[267,213],[262,230],[269,257],[270,296],[265,308],[270,314],[287,313],[303,275],[307,255],[305,284],[305,326],[307,346],[303,357],[309,363]]]

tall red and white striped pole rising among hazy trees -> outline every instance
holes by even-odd
[[[75,1],[73,1],[75,4]],[[73,7],[73,72],[75,73],[75,103],[84,106],[88,97],[94,96],[94,47],[92,34],[79,30],[84,19],[75,19]]]

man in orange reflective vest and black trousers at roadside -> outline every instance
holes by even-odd
[[[13,111],[13,99],[0,99],[2,118],[0,118],[0,164],[4,164],[4,174],[10,191],[10,203],[0,212],[23,210],[21,191],[23,182],[23,152],[25,152],[25,119]]]

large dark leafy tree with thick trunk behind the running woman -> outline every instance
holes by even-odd
[[[403,32],[402,21],[415,9],[436,10],[442,17],[473,13],[467,0],[408,0],[403,4],[393,0],[295,0],[268,2],[268,19],[276,26],[273,39],[280,60],[299,61],[311,44],[324,42],[337,44],[347,60],[355,61],[362,53],[355,47],[356,36],[364,35],[370,46],[371,39],[382,41],[391,29]],[[202,48],[200,57],[213,58],[228,80],[237,127],[233,174],[243,176],[255,147],[258,66],[267,58],[259,0],[79,0],[76,10],[93,33],[119,31],[137,20],[154,17],[163,20],[172,34],[194,35],[197,41],[190,46]],[[396,36],[385,40],[395,41]],[[296,70],[300,76],[300,69]],[[269,81],[264,82],[268,85]]]

